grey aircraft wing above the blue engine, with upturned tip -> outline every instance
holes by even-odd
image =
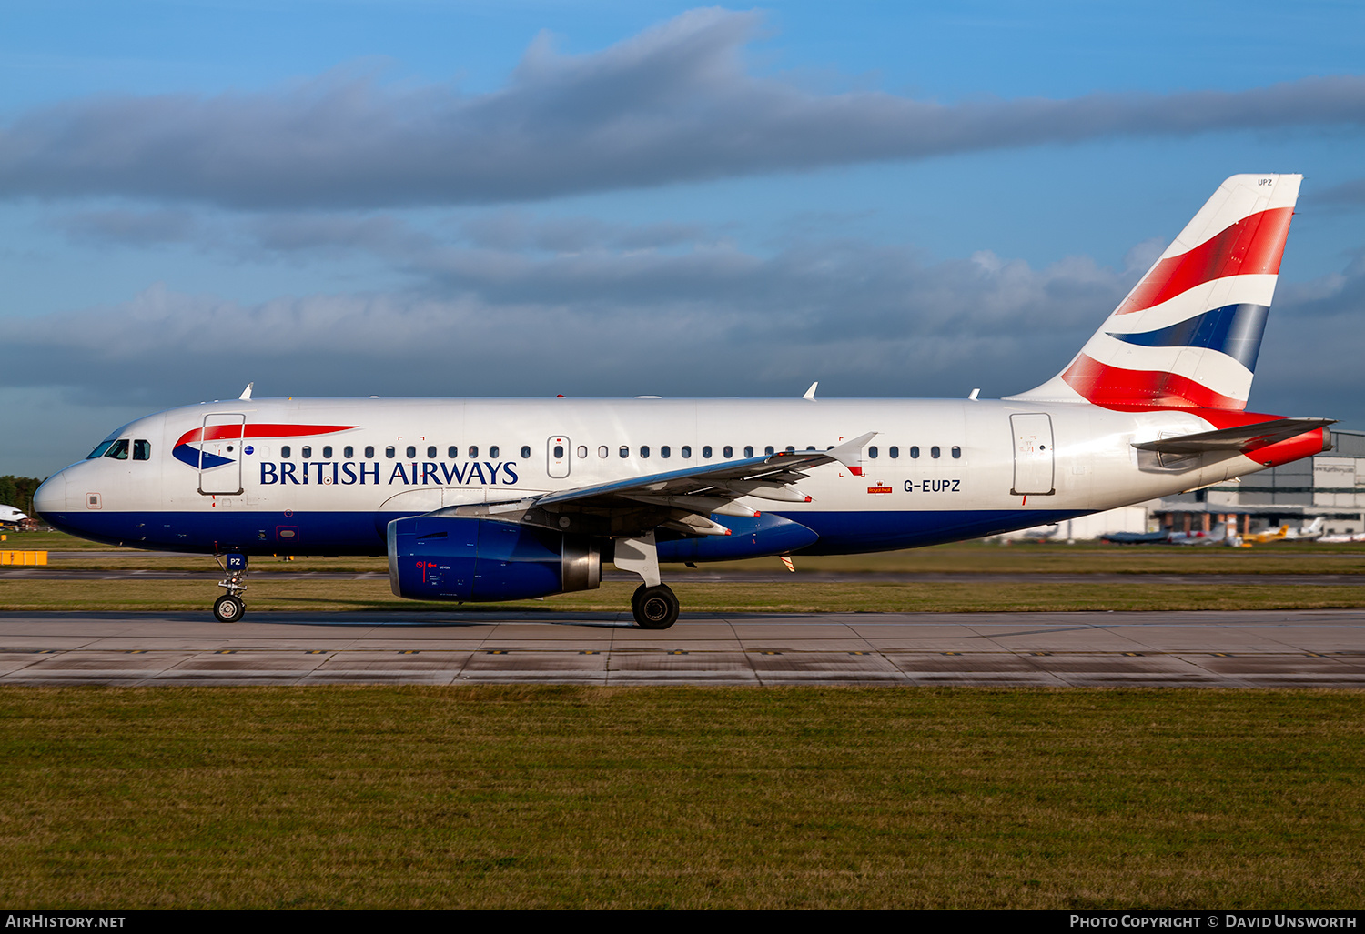
[[[688,534],[729,534],[711,514],[756,515],[734,503],[756,496],[786,503],[811,498],[792,484],[826,464],[844,464],[860,474],[861,449],[878,432],[853,438],[829,450],[777,451],[743,461],[650,473],[587,487],[560,489],[530,499],[455,506],[434,514],[482,515],[597,536],[633,536],[663,526]]]

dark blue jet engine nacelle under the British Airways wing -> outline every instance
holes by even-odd
[[[389,522],[389,584],[408,600],[527,600],[601,582],[602,552],[583,536],[478,518]]]

